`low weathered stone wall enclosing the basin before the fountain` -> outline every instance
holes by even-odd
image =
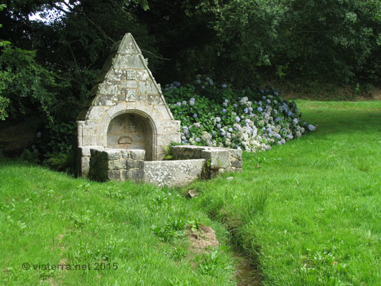
[[[206,146],[172,147],[171,161],[144,161],[145,150],[82,147],[82,176],[96,181],[143,181],[157,186],[184,186],[198,178],[242,171],[242,151]],[[85,177],[85,176],[84,176]]]

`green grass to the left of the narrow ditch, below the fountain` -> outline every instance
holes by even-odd
[[[175,190],[100,184],[15,161],[0,163],[0,182],[0,285],[235,284],[227,231]],[[215,229],[218,249],[191,251],[184,226],[194,220]],[[91,270],[32,269],[47,263]],[[94,270],[101,263],[107,269]]]

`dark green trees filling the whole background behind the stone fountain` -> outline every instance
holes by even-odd
[[[0,118],[38,116],[45,138],[75,126],[109,48],[127,32],[163,85],[193,84],[200,73],[240,90],[297,83],[298,95],[331,84],[335,98],[339,84],[363,94],[380,83],[380,0],[3,2]],[[60,134],[59,148],[52,135],[28,150],[60,160],[71,145],[70,133]]]

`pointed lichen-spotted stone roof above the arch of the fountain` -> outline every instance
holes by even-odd
[[[170,109],[161,93],[161,87],[154,80],[148,61],[141,54],[139,46],[130,33],[111,49],[96,84],[85,100],[77,120],[87,120],[91,106],[112,106],[118,102],[150,101],[154,105],[165,105]]]

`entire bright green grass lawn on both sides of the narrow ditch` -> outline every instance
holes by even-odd
[[[0,162],[0,284],[235,285],[229,230],[265,285],[381,285],[381,102],[297,104],[316,133],[182,190]],[[199,222],[217,249],[192,251]]]

